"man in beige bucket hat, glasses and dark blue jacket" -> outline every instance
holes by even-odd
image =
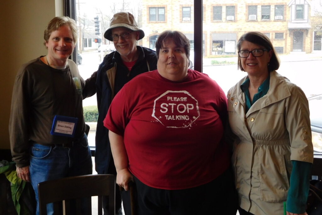
[[[104,127],[103,120],[112,99],[123,85],[140,73],[155,70],[157,59],[155,51],[136,45],[137,40],[144,37],[144,31],[137,27],[137,22],[131,13],[114,14],[104,37],[113,41],[116,51],[104,57],[97,72],[99,117],[95,138],[95,169],[99,174],[116,175],[109,143],[109,131]],[[115,197],[116,214],[122,214],[119,189],[116,189]],[[103,199],[104,214],[107,214],[107,204],[107,199]],[[128,213],[126,207],[124,208]]]

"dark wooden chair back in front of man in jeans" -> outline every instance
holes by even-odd
[[[38,184],[38,194],[40,215],[47,215],[48,203],[54,203],[55,215],[81,214],[80,208],[84,201],[80,198],[88,197],[87,207],[91,208],[91,196],[98,196],[99,215],[102,215],[102,196],[109,196],[109,214],[115,214],[114,175],[72,176],[44,181]],[[71,211],[73,203],[76,203],[76,207]]]

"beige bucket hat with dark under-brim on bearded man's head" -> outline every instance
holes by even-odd
[[[135,21],[134,16],[131,13],[128,13],[128,12],[115,13],[113,18],[111,19],[111,22],[109,23],[109,29],[106,30],[104,33],[104,37],[110,41],[113,41],[111,37],[112,29],[118,28],[118,27],[124,27],[134,31],[139,31],[140,32],[139,39],[142,39],[144,37],[144,31],[137,27],[137,22]]]

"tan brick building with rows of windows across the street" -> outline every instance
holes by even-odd
[[[248,31],[266,34],[281,54],[321,50],[310,24],[311,0],[204,0],[203,11],[205,57],[236,55],[236,43]],[[162,31],[179,30],[193,48],[194,1],[143,0],[142,26],[143,46],[155,48]]]

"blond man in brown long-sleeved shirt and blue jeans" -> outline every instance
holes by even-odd
[[[11,153],[18,177],[33,186],[36,215],[38,183],[92,174],[82,107],[85,81],[68,59],[76,41],[76,22],[69,17],[53,18],[44,32],[47,55],[24,64],[14,82]],[[90,209],[81,210],[88,214]],[[47,205],[47,214],[53,214],[52,204]]]

